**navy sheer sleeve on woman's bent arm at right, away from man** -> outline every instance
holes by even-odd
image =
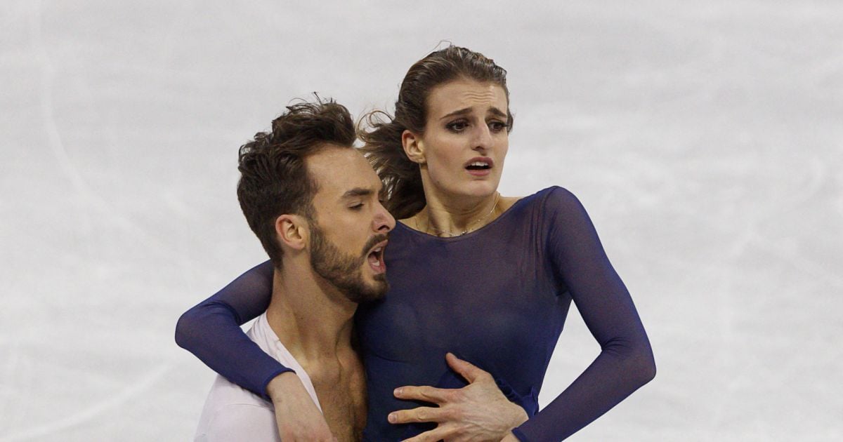
[[[566,439],[656,373],[641,319],[583,205],[557,188],[547,199],[545,216],[547,253],[601,351],[553,402],[513,430],[522,441]]]

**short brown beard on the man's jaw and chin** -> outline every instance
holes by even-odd
[[[389,290],[386,274],[375,274],[374,283],[367,284],[363,278],[362,266],[366,264],[368,253],[375,244],[384,241],[386,235],[375,235],[363,246],[361,255],[354,257],[342,253],[339,248],[325,238],[325,233],[310,222],[310,265],[316,274],[336,286],[349,301],[376,301]]]

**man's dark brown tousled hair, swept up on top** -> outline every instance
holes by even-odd
[[[272,130],[258,132],[255,140],[240,146],[237,199],[252,232],[272,264],[282,266],[275,221],[294,214],[314,219],[313,197],[318,184],[309,176],[304,159],[326,145],[354,148],[354,121],[348,109],[332,99],[287,106],[272,120]]]

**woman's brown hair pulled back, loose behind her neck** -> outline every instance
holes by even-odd
[[[479,52],[453,45],[432,52],[410,67],[395,101],[395,116],[374,110],[362,119],[368,126],[360,130],[365,143],[362,151],[384,182],[385,206],[396,219],[416,215],[427,205],[419,165],[405,155],[401,134],[404,130],[423,134],[427,97],[432,89],[459,78],[496,83],[503,88],[507,95],[507,131],[512,130],[507,71]]]

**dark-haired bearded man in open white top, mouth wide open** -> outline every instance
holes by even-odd
[[[352,317],[358,302],[387,290],[384,247],[395,219],[379,202],[378,176],[352,147],[346,108],[329,101],[287,109],[240,148],[240,207],[274,266],[270,306],[248,334],[295,370],[271,382],[270,392],[284,391],[272,397],[284,408],[278,426],[307,429],[314,440],[358,440],[366,384]],[[279,434],[276,413],[217,376],[196,440],[298,439]]]

